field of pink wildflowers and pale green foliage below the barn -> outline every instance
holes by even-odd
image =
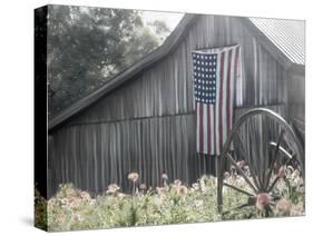
[[[304,215],[303,179],[292,167],[286,168],[272,191],[280,198],[260,194],[254,205],[226,214],[218,214],[217,210],[215,177],[203,176],[190,186],[179,179],[168,183],[166,174],[162,178],[163,186],[147,188],[145,184],[137,183],[138,174],[129,174],[128,179],[134,184],[133,194],[121,193],[116,184],[96,197],[71,184],[61,185],[49,200],[37,191],[36,225],[58,232]],[[242,176],[235,173],[225,175],[224,181],[238,188],[248,188]],[[223,188],[223,196],[225,209],[248,200],[246,196],[226,187]],[[267,204],[272,209],[270,215],[264,214],[264,205]]]

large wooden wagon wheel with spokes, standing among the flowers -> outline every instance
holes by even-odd
[[[261,197],[273,196],[280,170],[294,166],[304,178],[304,150],[293,128],[276,112],[255,108],[242,115],[234,124],[221,155],[217,204],[222,214],[256,204]],[[246,168],[244,169],[243,166]],[[225,173],[233,170],[244,187],[227,183]],[[223,209],[223,187],[245,196],[246,201],[232,209]],[[265,203],[265,213],[272,210]],[[223,212],[224,210],[224,212]]]

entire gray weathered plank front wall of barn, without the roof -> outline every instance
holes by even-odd
[[[203,16],[166,58],[52,134],[52,191],[67,181],[91,191],[105,190],[109,183],[126,189],[129,171],[138,171],[148,185],[160,184],[162,171],[187,183],[212,171],[214,159],[195,153],[190,52],[235,43],[243,50],[236,106],[285,102],[284,68],[242,22]]]

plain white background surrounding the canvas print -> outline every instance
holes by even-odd
[[[33,9],[46,3],[187,11],[306,21],[306,216],[58,235],[303,235],[312,234],[312,7],[310,0],[4,0],[0,4],[0,235],[40,235],[32,227],[33,194]],[[311,11],[311,12],[310,12]],[[42,157],[45,158],[45,157]],[[310,223],[312,222],[312,223]],[[310,227],[311,226],[311,227]]]

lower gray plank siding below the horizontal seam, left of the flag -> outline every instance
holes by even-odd
[[[60,129],[51,142],[49,160],[57,170],[50,176],[51,189],[69,180],[91,191],[101,191],[110,183],[127,189],[127,174],[134,170],[140,181],[153,185],[160,184],[163,171],[170,179],[195,180],[204,171],[193,158],[194,124],[194,115],[183,115]],[[195,171],[189,171],[190,166]]]

